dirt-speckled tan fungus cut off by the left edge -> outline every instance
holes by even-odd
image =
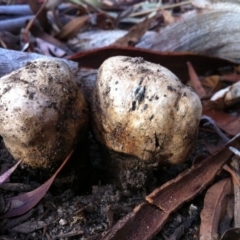
[[[66,63],[37,59],[0,79],[0,135],[17,160],[51,167],[86,132],[87,103]]]

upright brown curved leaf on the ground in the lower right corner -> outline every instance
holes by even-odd
[[[232,184],[230,178],[225,178],[208,189],[204,198],[204,207],[200,215],[199,240],[217,239],[221,208],[224,207],[223,201],[231,191]]]

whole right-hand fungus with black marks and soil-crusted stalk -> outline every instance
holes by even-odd
[[[145,186],[153,169],[183,163],[194,147],[200,99],[160,65],[140,57],[107,59],[91,102],[106,169],[123,188]]]

